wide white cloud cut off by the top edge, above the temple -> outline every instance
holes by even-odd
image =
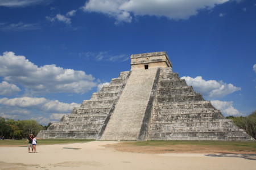
[[[131,22],[132,14],[165,16],[169,19],[188,19],[198,10],[211,9],[216,5],[233,0],[89,0],[85,3],[85,12],[100,12],[113,17],[117,22]]]

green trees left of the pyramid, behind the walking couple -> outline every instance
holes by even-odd
[[[39,125],[35,120],[12,120],[0,117],[0,138],[22,139],[27,138],[31,133],[37,135],[40,130],[46,130],[47,126]]]

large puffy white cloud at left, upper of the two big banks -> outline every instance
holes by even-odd
[[[92,87],[92,75],[84,71],[63,69],[56,65],[36,66],[24,56],[15,56],[13,52],[5,52],[0,56],[0,76],[6,82],[20,84],[32,94],[71,92],[84,94]]]

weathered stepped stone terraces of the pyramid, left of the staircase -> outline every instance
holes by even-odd
[[[118,78],[111,80],[108,86],[84,100],[79,108],[52,124],[47,130],[38,134],[40,138],[81,138],[96,139],[110,111],[117,103],[130,71],[121,72]]]

